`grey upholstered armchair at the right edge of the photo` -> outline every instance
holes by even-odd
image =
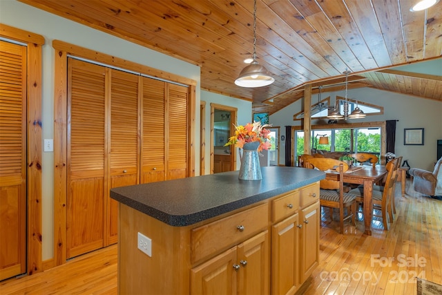
[[[428,196],[442,196],[442,158],[434,165],[434,171],[412,168],[413,189]]]

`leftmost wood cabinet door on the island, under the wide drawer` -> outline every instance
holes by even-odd
[[[191,294],[236,294],[236,247],[191,269]]]

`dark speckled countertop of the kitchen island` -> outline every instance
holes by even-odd
[[[111,189],[111,198],[174,227],[184,227],[322,180],[325,173],[287,166],[262,167],[262,180],[238,171]]]

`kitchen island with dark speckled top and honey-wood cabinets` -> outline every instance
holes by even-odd
[[[270,166],[112,189],[119,294],[293,294],[318,264],[324,178]]]

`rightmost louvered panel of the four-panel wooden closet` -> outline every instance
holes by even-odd
[[[167,126],[167,179],[187,177],[187,100],[189,88],[169,84]]]

